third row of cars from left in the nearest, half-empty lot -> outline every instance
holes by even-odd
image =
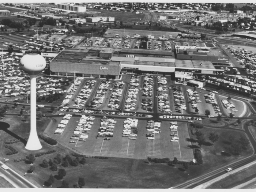
[[[98,130],[97,137],[108,137],[105,140],[110,140],[109,137],[113,137],[114,134],[114,127],[116,124],[116,120],[113,117],[103,117],[101,118],[101,127]]]

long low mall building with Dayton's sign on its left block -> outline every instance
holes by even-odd
[[[120,73],[175,76],[175,72],[215,74],[211,61],[176,60],[171,51],[75,46],[65,48],[50,61],[54,75],[118,79]],[[178,76],[177,76],[178,77]]]

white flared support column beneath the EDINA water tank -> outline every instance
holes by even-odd
[[[41,143],[37,136],[37,111],[36,111],[36,77],[37,75],[30,76],[30,134],[27,140],[27,150],[39,150],[42,148]]]

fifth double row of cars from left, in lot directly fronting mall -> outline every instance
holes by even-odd
[[[133,110],[137,105],[137,95],[139,93],[140,76],[132,75],[129,83],[129,90],[125,100],[125,110]]]

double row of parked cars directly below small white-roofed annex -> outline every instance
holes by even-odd
[[[170,87],[169,87],[170,88]],[[186,110],[186,104],[184,102],[184,95],[182,88],[180,86],[173,86],[173,101],[175,105],[176,112],[182,113],[182,110]]]

